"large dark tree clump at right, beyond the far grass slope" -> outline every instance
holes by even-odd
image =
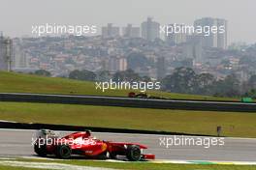
[[[256,98],[256,75],[247,82],[240,82],[235,74],[217,80],[210,73],[197,74],[190,68],[177,68],[174,73],[162,80],[162,90],[217,97],[250,97]]]

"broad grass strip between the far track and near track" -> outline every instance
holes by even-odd
[[[221,126],[224,136],[256,137],[255,113],[0,102],[0,120],[206,135],[216,135]]]

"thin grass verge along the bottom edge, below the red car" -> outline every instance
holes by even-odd
[[[92,160],[48,160],[48,159],[17,159],[20,162],[42,162],[61,163],[68,165],[79,165],[85,167],[104,167],[112,169],[133,169],[133,170],[254,170],[255,166],[249,165],[196,165],[196,164],[172,164],[172,163],[151,163],[151,162],[106,162]],[[1,163],[1,160],[0,160]],[[24,170],[31,168],[0,166],[0,170]],[[75,168],[74,168],[75,169]]]

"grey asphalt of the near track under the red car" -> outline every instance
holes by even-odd
[[[0,129],[0,156],[35,156],[31,146],[34,133],[35,130]],[[92,135],[104,140],[142,143],[149,147],[144,153],[155,154],[156,159],[256,161],[256,139],[225,138],[224,146],[208,149],[202,146],[172,146],[167,149],[160,146],[159,137],[174,136],[98,132]]]

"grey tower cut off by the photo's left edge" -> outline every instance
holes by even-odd
[[[13,42],[9,38],[4,38],[0,33],[0,71],[10,71],[13,55]]]

